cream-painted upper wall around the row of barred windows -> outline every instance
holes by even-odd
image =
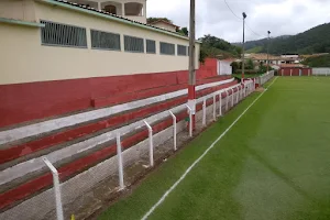
[[[40,29],[0,23],[0,85],[188,69],[188,56],[160,54],[160,41],[188,45],[188,38],[92,15],[88,10],[34,3],[37,20],[86,28],[88,48],[42,46]],[[120,33],[122,51],[90,50],[90,29]],[[123,52],[124,34],[155,40],[156,54]],[[196,54],[198,68],[199,44]]]

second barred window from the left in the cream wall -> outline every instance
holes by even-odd
[[[91,48],[120,51],[120,35],[90,30]]]

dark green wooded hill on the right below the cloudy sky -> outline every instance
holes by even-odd
[[[297,35],[284,35],[270,40],[271,54],[312,54],[330,52],[330,23],[315,26]],[[241,44],[235,44],[241,45]],[[250,41],[245,48],[252,52],[267,51],[267,38]]]

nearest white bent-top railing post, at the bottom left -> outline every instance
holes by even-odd
[[[58,172],[46,157],[43,157],[43,161],[47,165],[47,167],[51,169],[52,175],[53,175],[57,220],[64,220]]]

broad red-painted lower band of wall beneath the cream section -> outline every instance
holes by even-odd
[[[217,76],[207,59],[197,79]],[[188,70],[0,85],[0,128],[91,108],[94,99],[172,85],[186,85]]]

